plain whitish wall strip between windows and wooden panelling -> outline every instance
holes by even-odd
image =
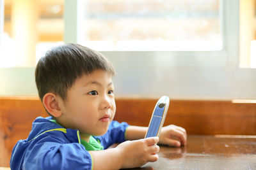
[[[111,59],[116,96],[255,99],[256,69],[143,68]],[[1,68],[0,96],[37,96],[34,67]]]

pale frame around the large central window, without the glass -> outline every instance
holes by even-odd
[[[67,8],[64,11],[64,41],[65,43],[82,43],[83,41],[79,39],[81,37],[79,29],[82,28],[83,22],[81,22],[81,17],[76,16],[83,13],[81,7],[84,2],[82,0],[71,1],[65,0]],[[125,58],[128,63],[140,62],[141,59],[147,57],[152,60],[165,60],[165,64],[170,64],[169,66],[172,67],[238,67],[239,20],[234,20],[234,18],[239,18],[239,0],[220,0],[220,18],[223,42],[223,49],[220,51],[104,51],[102,53],[115,60]]]

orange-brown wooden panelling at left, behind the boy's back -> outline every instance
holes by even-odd
[[[36,117],[47,116],[38,98],[0,98],[0,167],[9,167],[12,148],[19,139],[26,139]]]

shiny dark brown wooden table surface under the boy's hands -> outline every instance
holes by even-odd
[[[188,136],[186,146],[160,146],[158,154],[135,169],[256,169],[256,136]]]

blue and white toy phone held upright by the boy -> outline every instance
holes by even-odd
[[[164,124],[164,119],[169,107],[170,99],[167,96],[161,97],[154,108],[151,120],[148,125],[148,131],[145,138],[159,136],[159,132]]]

